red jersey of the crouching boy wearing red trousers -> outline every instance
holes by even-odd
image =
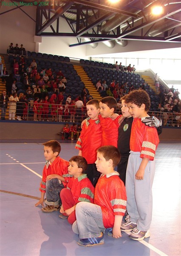
[[[76,204],[86,201],[93,204],[94,187],[86,174],[74,179],[70,175],[63,175],[67,181],[67,188],[71,190]]]

